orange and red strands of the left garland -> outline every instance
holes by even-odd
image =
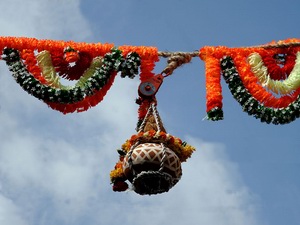
[[[48,84],[47,80],[42,74],[41,69],[37,65],[37,53],[45,50],[49,51],[52,58],[52,64],[55,67],[58,76],[69,80],[79,80],[90,66],[92,59],[99,56],[103,57],[104,55],[108,54],[113,47],[113,44],[38,40],[35,38],[25,37],[0,37],[0,49],[2,51],[4,51],[4,49],[13,49],[20,52],[20,57],[23,60],[24,66],[26,67],[28,73],[34,79],[36,79],[36,81],[45,86],[47,86]],[[146,46],[120,46],[119,49],[121,50],[121,53],[124,57],[123,61],[121,60],[118,65],[120,70],[122,70],[122,73],[136,73],[137,69],[134,69],[134,71],[132,71],[131,69],[134,67],[127,67],[127,65],[128,63],[135,63],[135,61],[132,61],[134,57],[140,57],[140,78],[143,80],[154,75],[152,71],[154,69],[155,62],[159,60],[157,48]],[[130,55],[131,52],[136,52],[137,55]],[[129,55],[131,59],[129,59],[127,62],[127,59],[125,58]],[[6,58],[7,57],[9,58],[9,56],[6,56]],[[71,65],[72,63],[73,65]],[[103,70],[101,68],[99,69],[99,71],[102,71],[101,73],[103,73]],[[105,70],[106,67],[103,67],[103,69]],[[103,99],[107,91],[112,86],[117,72],[118,71],[111,72],[110,78],[105,81],[105,85],[102,84],[104,86],[101,89],[94,89],[93,94],[87,94],[80,101],[70,101],[67,103],[66,100],[64,100],[64,102],[60,102],[60,98],[56,97],[51,97],[51,101],[46,99],[44,101],[52,109],[58,110],[63,113],[72,113],[75,111],[82,112],[88,110],[90,107],[97,105]],[[126,74],[122,75],[122,77],[124,76],[126,76]],[[32,81],[34,82],[34,84],[36,84],[36,81]],[[90,82],[91,80],[88,81]],[[20,84],[23,84],[23,81],[19,82],[21,82]],[[93,81],[93,83],[95,83],[95,81]],[[89,83],[89,85],[94,84]],[[93,89],[92,86],[88,88]],[[32,92],[30,87],[26,87],[25,89],[28,90],[29,93]],[[56,88],[56,90],[52,90],[50,94],[58,93],[57,91],[59,91],[58,88]],[[89,92],[87,89],[86,91]],[[37,96],[37,94],[34,94],[34,96]],[[54,101],[53,99],[57,99],[57,101]]]

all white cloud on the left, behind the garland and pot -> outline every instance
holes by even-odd
[[[91,35],[79,1],[0,2],[4,7],[1,35]],[[136,81],[117,79],[99,106],[64,116],[21,90],[5,66],[0,71],[1,224],[256,224],[256,199],[236,165],[220,146],[195,138],[189,142],[198,151],[169,193],[111,191],[114,149],[134,133]]]

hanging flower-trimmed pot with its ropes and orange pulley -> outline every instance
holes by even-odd
[[[158,114],[155,94],[164,76],[158,74],[139,85],[140,105],[137,134],[118,150],[119,162],[110,173],[114,191],[129,188],[141,195],[168,192],[181,178],[181,163],[195,150],[168,134]]]

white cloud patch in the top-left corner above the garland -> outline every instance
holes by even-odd
[[[1,35],[83,41],[91,36],[79,0],[1,1]]]

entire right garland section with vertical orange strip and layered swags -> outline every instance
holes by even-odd
[[[221,73],[233,97],[262,122],[286,124],[299,117],[299,40],[247,48],[204,47],[207,118],[223,119]]]

